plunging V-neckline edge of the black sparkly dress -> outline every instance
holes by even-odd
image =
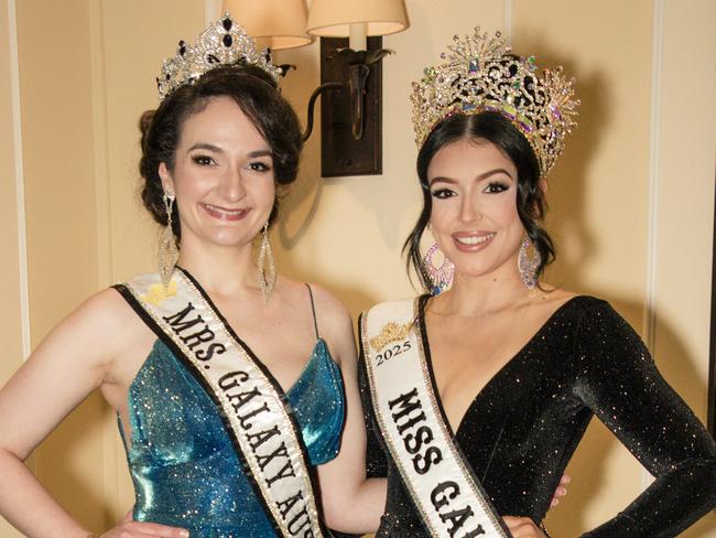
[[[562,303],[554,312],[550,314],[550,316],[544,321],[542,325],[540,325],[540,329],[538,329],[534,334],[520,347],[520,349],[510,357],[509,361],[507,361],[489,379],[488,381],[482,386],[480,390],[478,390],[473,399],[470,400],[470,404],[467,406],[465,409],[465,412],[460,417],[460,420],[457,422],[457,428],[453,430],[453,424],[451,424],[447,413],[445,412],[445,408],[443,407],[443,398],[440,394],[440,390],[437,389],[437,381],[435,380],[435,372],[433,368],[433,358],[432,358],[432,353],[430,348],[430,342],[427,338],[427,326],[425,324],[425,306],[427,305],[427,300],[430,299],[431,295],[424,294],[421,295],[417,299],[417,304],[416,304],[416,310],[417,312],[416,318],[419,321],[419,326],[420,326],[420,336],[421,336],[421,343],[423,346],[424,351],[424,356],[425,356],[425,366],[427,369],[427,373],[430,375],[430,381],[431,386],[433,389],[433,394],[435,395],[435,399],[437,401],[437,407],[440,409],[440,412],[442,415],[443,421],[445,422],[445,426],[447,427],[447,431],[449,434],[453,437],[453,439],[457,439],[457,435],[459,434],[460,430],[463,429],[463,424],[465,423],[465,419],[467,418],[468,415],[470,415],[473,408],[477,405],[478,400],[480,400],[480,397],[486,394],[486,391],[491,388],[492,385],[497,383],[497,379],[502,377],[505,375],[505,372],[508,370],[513,364],[516,364],[521,357],[524,356],[524,352],[532,346],[533,342],[538,340],[538,337],[554,322],[555,318],[567,308],[567,305],[572,304],[575,300],[583,298],[585,295],[574,295],[569,299],[567,299],[564,303]]]

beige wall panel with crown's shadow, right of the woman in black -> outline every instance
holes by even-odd
[[[586,22],[588,21],[588,23]],[[576,77],[579,123],[550,177],[552,280],[610,301],[639,330],[651,95],[651,1],[516,0],[512,42]],[[606,39],[608,36],[608,39]]]

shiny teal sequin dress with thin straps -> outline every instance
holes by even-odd
[[[344,423],[344,387],[322,338],[286,398],[311,464],[333,460]],[[129,420],[124,448],[135,520],[183,527],[193,537],[275,536],[216,406],[161,340],[130,386]]]

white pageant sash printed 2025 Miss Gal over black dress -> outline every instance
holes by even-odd
[[[373,306],[360,332],[378,427],[430,535],[510,536],[445,423],[425,361],[417,300]]]

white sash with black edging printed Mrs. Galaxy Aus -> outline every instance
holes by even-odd
[[[305,446],[285,395],[198,283],[177,268],[167,288],[159,275],[144,275],[118,290],[218,407],[279,536],[330,536],[318,517]]]

